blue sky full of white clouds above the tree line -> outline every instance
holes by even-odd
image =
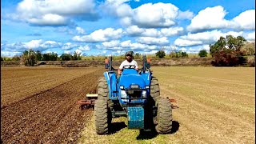
[[[1,56],[198,53],[226,35],[255,41],[254,0],[2,0]]]

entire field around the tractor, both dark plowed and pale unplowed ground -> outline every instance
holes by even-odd
[[[103,68],[4,67],[1,70],[3,143],[255,143],[255,69],[152,67],[162,97],[174,98],[173,132],[128,130],[113,120],[97,135],[93,110],[76,101],[94,93]]]

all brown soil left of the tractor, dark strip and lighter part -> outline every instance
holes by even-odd
[[[1,70],[1,143],[77,142],[92,110],[76,102],[96,90],[104,69],[15,70]]]

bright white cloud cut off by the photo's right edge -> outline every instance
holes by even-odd
[[[246,10],[233,18],[234,28],[255,30],[255,10]]]

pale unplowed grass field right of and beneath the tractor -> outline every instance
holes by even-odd
[[[255,69],[242,67],[153,67],[162,97],[174,98],[172,134],[128,130],[97,135],[94,118],[78,143],[255,143]]]

